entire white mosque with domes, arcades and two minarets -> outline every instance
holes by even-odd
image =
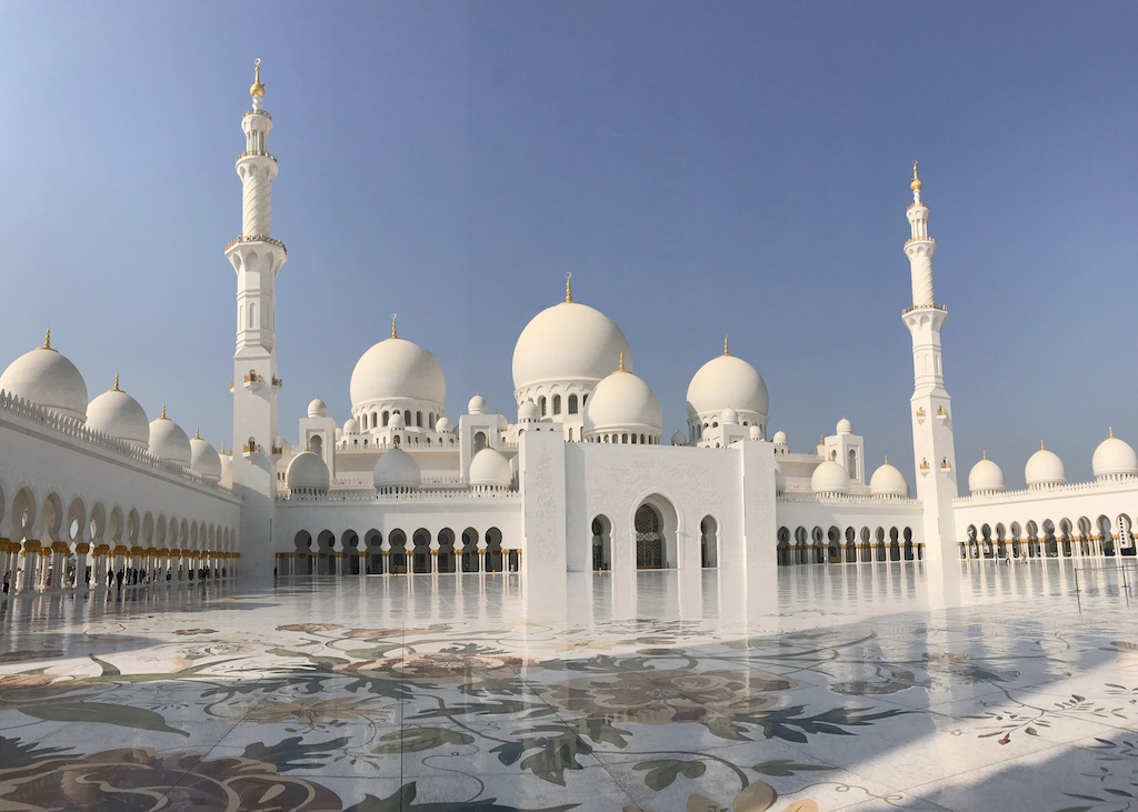
[[[769,431],[762,376],[726,340],[692,375],[687,425],[665,437],[624,332],[575,301],[568,277],[564,300],[514,346],[517,420],[478,395],[447,416],[443,370],[393,318],[355,366],[351,415],[338,422],[314,399],[286,442],[274,297],[287,251],[272,237],[278,165],[259,67],[250,94],[242,230],[225,248],[237,274],[232,440],[218,451],[190,438],[165,407],[149,420],[117,379],[89,399],[49,333],[0,375],[6,586],[86,589],[124,566],[171,579],[732,567],[764,583],[777,565],[1133,555],[1138,455],[1113,434],[1094,451],[1094,482],[1069,483],[1040,448],[1026,490],[1007,491],[984,458],[959,495],[948,310],[933,296],[937,242],[915,165],[913,306],[901,314],[915,495],[888,461],[867,477],[848,420],[791,450]]]

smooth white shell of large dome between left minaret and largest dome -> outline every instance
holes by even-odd
[[[435,356],[417,343],[389,338],[369,349],[352,372],[352,408],[381,400],[446,400],[446,379]]]

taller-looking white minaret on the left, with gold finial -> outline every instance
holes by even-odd
[[[277,158],[267,151],[272,116],[262,108],[261,60],[249,88],[253,109],[241,117],[245,151],[237,158],[241,179],[241,235],[225,246],[237,272],[237,351],[233,355],[233,489],[245,499],[240,552],[244,574],[272,574],[272,523],[277,504],[277,274],[287,258],[272,238],[272,183]]]

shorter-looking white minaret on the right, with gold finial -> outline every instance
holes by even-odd
[[[929,237],[929,206],[921,201],[917,163],[913,161],[913,204],[905,216],[910,235],[905,241],[913,277],[913,307],[901,321],[913,334],[913,456],[916,463],[917,499],[924,512],[924,555],[931,562],[956,557],[953,499],[957,496],[956,446],[953,441],[953,407],[945,389],[940,329],[948,308],[935,304],[932,256],[937,241]]]

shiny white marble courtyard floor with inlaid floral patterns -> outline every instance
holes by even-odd
[[[0,809],[1138,806],[1135,562],[959,567],[20,596]]]

